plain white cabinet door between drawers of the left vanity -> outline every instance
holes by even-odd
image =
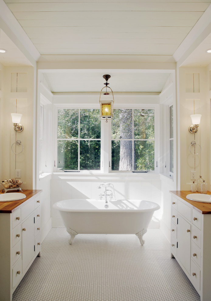
[[[34,250],[34,214],[22,223],[22,263],[23,272],[35,254]]]

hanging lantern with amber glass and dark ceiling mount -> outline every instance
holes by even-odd
[[[104,88],[106,88],[106,93],[103,93],[103,95],[109,95],[109,93],[107,92],[107,86],[109,85],[108,79],[110,77],[111,76],[109,74],[103,75],[103,78],[106,80],[106,83],[104,83],[104,85],[106,85],[106,86],[102,88],[102,90]],[[111,89],[110,87],[108,87],[108,88]],[[101,90],[101,92],[102,92],[102,90]],[[101,92],[100,92],[100,96],[101,96]],[[114,95],[113,95],[112,89],[111,89],[111,92],[112,92],[113,99],[99,100],[99,102],[100,102],[100,118],[106,119],[106,122],[108,122],[108,119],[112,119],[112,117],[113,117]]]

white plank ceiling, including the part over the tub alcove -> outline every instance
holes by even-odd
[[[174,54],[199,24],[197,21],[211,0],[5,0],[5,3],[28,41],[38,50],[37,61],[65,62],[74,57],[73,61],[83,62],[89,56],[89,60],[92,57],[93,61],[101,62],[107,56],[110,62],[175,62]],[[14,27],[10,26],[12,30]],[[6,40],[6,35],[0,33],[0,47],[8,49]],[[9,38],[8,47],[8,52],[0,56],[2,64],[30,65]],[[211,59],[205,54],[205,47],[211,48],[210,36],[205,45],[193,52],[187,64],[209,64]],[[90,70],[89,74],[47,72],[44,76],[52,92],[94,92],[103,85],[104,73],[111,73],[111,86],[118,92],[161,92],[169,76],[165,72],[121,74],[112,70],[101,73]]]

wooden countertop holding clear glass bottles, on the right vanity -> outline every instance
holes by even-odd
[[[186,190],[177,190],[177,191],[170,191],[171,194],[180,197],[187,203],[191,204],[195,209],[202,213],[202,214],[211,214],[211,203],[202,203],[202,202],[195,202],[186,199],[186,195],[191,194],[191,193],[198,193],[198,192],[191,192],[191,191],[186,191]],[[208,191],[207,194],[211,195],[211,192]]]

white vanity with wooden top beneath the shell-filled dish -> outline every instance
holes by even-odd
[[[0,202],[0,301],[12,301],[19,282],[40,256],[41,192],[22,190],[25,199]]]

